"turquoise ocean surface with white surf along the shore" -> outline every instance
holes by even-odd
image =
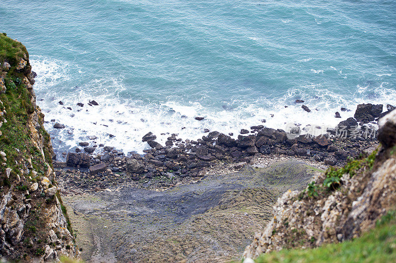
[[[396,104],[396,0],[1,0],[0,31],[29,51],[57,152],[335,126],[359,103]]]

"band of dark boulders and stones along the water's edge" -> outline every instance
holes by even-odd
[[[340,122],[336,129],[314,136],[300,134],[298,125],[289,131],[252,126],[241,130],[238,139],[220,132],[209,132],[198,140],[182,140],[178,134],[168,137],[165,146],[155,141],[156,135],[143,136],[151,149],[144,155],[130,154],[114,147],[96,144],[96,137],[79,142],[84,152],[67,153],[66,162],[54,162],[57,175],[78,191],[102,191],[134,185],[139,188],[166,189],[178,183],[199,180],[205,169],[221,164],[250,163],[258,156],[294,156],[315,160],[326,166],[342,166],[365,149],[378,144],[376,121],[394,110],[392,105],[359,104],[354,118]],[[345,109],[346,110],[346,109]],[[97,149],[100,154],[94,154]]]

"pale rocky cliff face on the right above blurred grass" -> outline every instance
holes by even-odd
[[[317,174],[303,191],[288,191],[244,257],[283,248],[310,248],[359,236],[396,208],[396,111],[380,119],[382,146],[367,158]]]

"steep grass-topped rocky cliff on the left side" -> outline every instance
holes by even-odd
[[[25,46],[0,34],[0,255],[53,262],[78,250],[59,196],[44,114],[36,105],[35,75]]]

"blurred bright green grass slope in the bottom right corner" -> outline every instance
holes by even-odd
[[[255,262],[396,262],[396,213],[389,212],[377,226],[351,241],[314,249],[282,250],[261,255]]]

